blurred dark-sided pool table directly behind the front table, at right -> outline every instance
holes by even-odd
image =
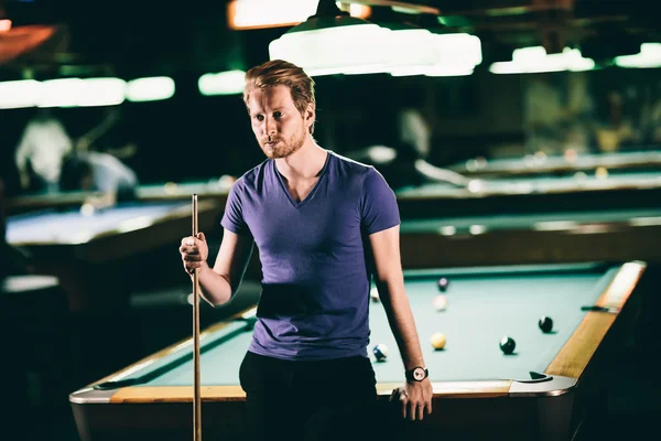
[[[661,208],[404,219],[404,268],[644,260],[661,263]]]

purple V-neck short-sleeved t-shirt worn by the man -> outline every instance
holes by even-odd
[[[383,176],[333,152],[300,203],[274,160],[243,174],[221,225],[250,235],[259,249],[262,293],[248,349],[294,361],[367,356],[368,236],[399,223]]]

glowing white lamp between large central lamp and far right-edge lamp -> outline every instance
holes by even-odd
[[[543,46],[517,49],[511,62],[498,62],[489,66],[492,74],[532,74],[543,72],[590,71],[595,62],[584,58],[577,49],[565,47],[560,54],[546,54]]]

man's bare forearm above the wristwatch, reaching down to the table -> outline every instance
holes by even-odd
[[[390,329],[402,356],[404,368],[412,369],[415,366],[424,366],[415,320],[404,291],[403,281],[377,282],[377,288],[388,315]]]

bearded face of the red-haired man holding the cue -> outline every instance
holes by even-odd
[[[289,87],[254,89],[248,109],[254,137],[268,158],[285,158],[303,147],[313,116],[311,110],[307,119],[301,115]]]

